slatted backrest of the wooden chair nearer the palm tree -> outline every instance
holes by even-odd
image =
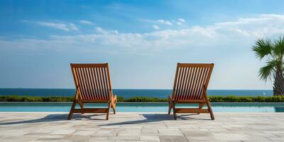
[[[200,100],[207,89],[214,64],[178,63],[173,86],[175,100]]]

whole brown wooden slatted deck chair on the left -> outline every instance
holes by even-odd
[[[109,65],[104,64],[71,64],[76,92],[68,119],[73,113],[107,113],[110,109],[116,113],[116,95],[112,94]],[[81,109],[75,109],[76,104]],[[84,108],[84,103],[107,103],[107,108]]]

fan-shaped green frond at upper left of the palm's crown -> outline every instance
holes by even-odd
[[[273,43],[271,40],[258,39],[256,40],[256,45],[253,45],[252,50],[256,54],[257,58],[264,58],[271,55],[271,50],[273,49]]]

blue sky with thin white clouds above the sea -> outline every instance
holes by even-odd
[[[74,88],[71,62],[109,62],[114,88],[172,88],[214,62],[210,89],[272,89],[251,46],[284,33],[284,1],[0,1],[0,87]]]

